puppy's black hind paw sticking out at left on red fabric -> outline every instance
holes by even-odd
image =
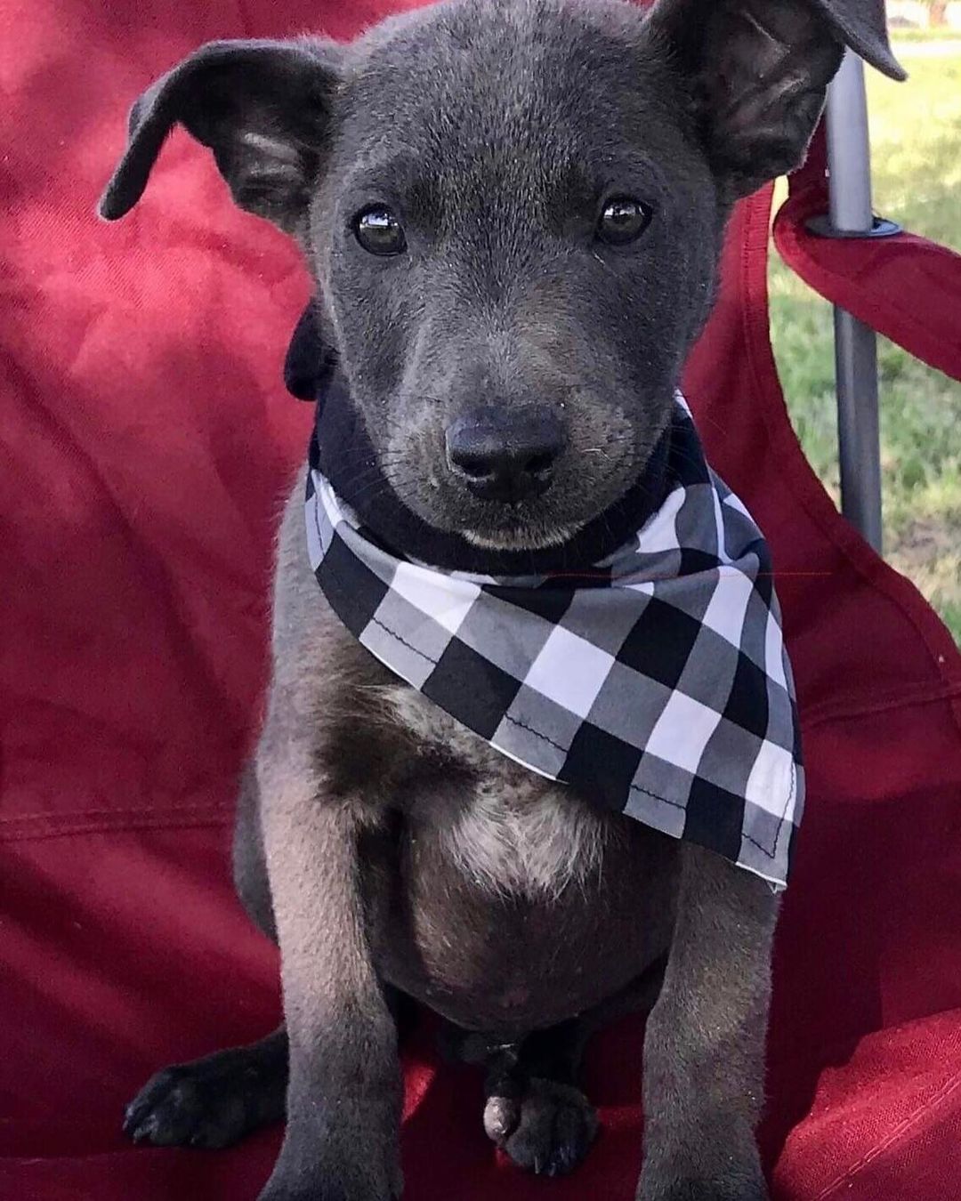
[[[155,1147],[228,1147],[283,1116],[283,1074],[257,1066],[239,1047],[165,1068],[127,1106],[124,1133]]]

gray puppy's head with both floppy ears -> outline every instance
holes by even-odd
[[[135,104],[106,217],[177,123],[303,246],[383,477],[479,546],[639,479],[734,201],[804,156],[883,0],[449,0],[351,44],[220,42]]]

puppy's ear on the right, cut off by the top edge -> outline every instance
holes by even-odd
[[[798,167],[846,46],[893,79],[884,0],[658,0],[651,30],[687,77],[732,197]]]

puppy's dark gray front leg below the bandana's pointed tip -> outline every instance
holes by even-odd
[[[638,1201],[766,1201],[760,1116],[777,900],[685,846],[670,957],[644,1044]]]

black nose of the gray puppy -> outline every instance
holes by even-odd
[[[474,496],[515,503],[550,488],[565,442],[543,410],[478,408],[448,426],[447,461]]]

